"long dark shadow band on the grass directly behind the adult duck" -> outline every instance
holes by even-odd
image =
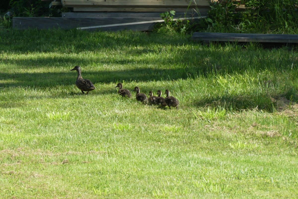
[[[189,73],[195,73],[198,69],[126,69],[121,71],[94,71],[82,72],[84,79],[91,80],[92,83],[117,83],[131,81],[157,81],[157,80],[175,80],[186,79]],[[73,71],[67,72],[47,72],[47,73],[3,73],[0,72],[3,81],[1,87],[54,87],[59,85],[74,85],[77,73]]]

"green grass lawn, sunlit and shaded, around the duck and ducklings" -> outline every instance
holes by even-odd
[[[286,46],[0,30],[0,198],[297,198],[297,67]]]

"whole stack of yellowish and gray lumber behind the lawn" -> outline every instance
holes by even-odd
[[[50,7],[71,10],[62,17],[15,17],[16,29],[152,30],[160,13],[175,10],[174,18],[197,20],[207,14],[212,0],[45,0]]]

